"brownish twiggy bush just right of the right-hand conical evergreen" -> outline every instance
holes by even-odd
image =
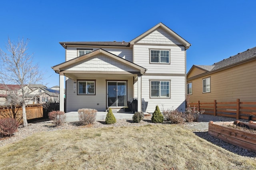
[[[163,115],[166,121],[171,121],[176,124],[184,122],[183,113],[178,110],[163,110]]]

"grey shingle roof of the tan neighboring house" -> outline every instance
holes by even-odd
[[[237,55],[233,55],[231,57],[223,59],[222,61],[214,63],[213,65],[193,65],[191,69],[188,71],[187,75],[192,71],[194,67],[203,69],[204,71],[206,71],[206,73],[212,73],[214,71],[218,71],[220,69],[225,69],[233,65],[244,63],[246,61],[249,61],[255,58],[256,58],[256,47],[253,47],[253,48],[247,49],[246,51],[240,52]]]

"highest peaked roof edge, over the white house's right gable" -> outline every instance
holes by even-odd
[[[150,34],[151,32],[153,32],[154,30],[158,29],[158,28],[162,28],[163,30],[165,30],[168,34],[170,34],[171,36],[173,36],[174,38],[176,38],[180,43],[182,43],[185,46],[185,49],[188,49],[191,44],[189,42],[187,42],[186,40],[184,40],[184,38],[182,38],[181,36],[179,36],[178,34],[176,34],[176,32],[172,31],[170,28],[168,28],[166,25],[164,25],[162,22],[160,22],[159,24],[157,24],[156,26],[150,28],[148,31],[144,32],[143,34],[141,34],[140,36],[134,38],[130,44],[133,45],[134,43],[138,42],[139,40],[141,40],[142,38],[146,37],[148,34]]]

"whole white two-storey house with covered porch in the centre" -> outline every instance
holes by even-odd
[[[60,75],[60,110],[81,108],[121,109],[130,98],[156,105],[185,109],[186,49],[190,43],[162,23],[130,42],[60,42],[66,62],[52,67]]]

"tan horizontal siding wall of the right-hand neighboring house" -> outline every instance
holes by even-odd
[[[190,102],[256,101],[256,60],[243,63],[204,77],[190,79]],[[210,93],[202,93],[202,79],[210,77]]]

